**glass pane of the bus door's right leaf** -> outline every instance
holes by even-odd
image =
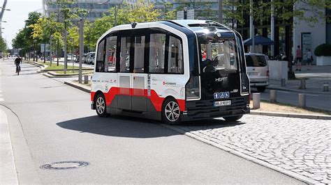
[[[135,59],[133,72],[144,72],[145,36],[135,37]]]

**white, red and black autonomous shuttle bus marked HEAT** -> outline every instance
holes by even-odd
[[[242,38],[222,24],[175,20],[115,26],[96,45],[91,108],[99,116],[181,121],[249,113]]]

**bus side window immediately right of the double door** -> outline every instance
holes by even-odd
[[[149,40],[149,72],[164,72],[165,34],[151,34]]]

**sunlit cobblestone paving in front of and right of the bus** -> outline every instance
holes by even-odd
[[[207,120],[175,128],[331,184],[331,120],[244,115],[240,122]]]

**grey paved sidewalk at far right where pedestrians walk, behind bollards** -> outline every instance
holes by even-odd
[[[293,71],[295,67],[293,67]],[[306,66],[302,67],[302,71],[294,71],[297,80],[286,81],[286,86],[281,87],[279,84],[271,84],[267,88],[276,90],[290,90],[300,93],[319,93],[331,95],[331,66],[311,66],[311,70],[307,70]],[[306,89],[300,88],[301,80],[306,79]],[[329,91],[323,91],[323,83],[329,84]]]

